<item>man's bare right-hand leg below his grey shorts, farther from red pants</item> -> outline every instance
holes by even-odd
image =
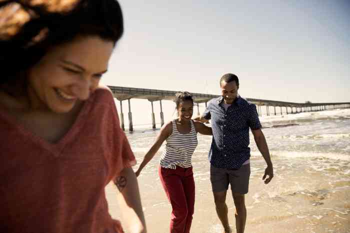
[[[236,211],[234,213],[234,217],[236,219],[236,230],[237,233],[243,233],[245,227],[246,220],[246,208],[244,202],[244,194],[240,194],[237,192],[232,193],[234,205],[236,207]]]

